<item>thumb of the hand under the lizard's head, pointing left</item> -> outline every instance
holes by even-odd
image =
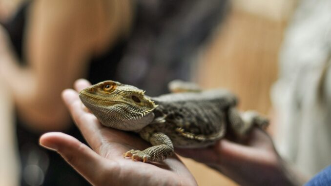
[[[73,166],[90,183],[98,182],[96,179],[100,178],[100,173],[103,172],[105,159],[87,145],[61,132],[43,134],[40,138],[40,145],[57,151],[66,162]]]

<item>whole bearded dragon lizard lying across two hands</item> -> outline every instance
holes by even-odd
[[[178,80],[168,85],[171,93],[149,97],[135,86],[109,80],[81,90],[79,97],[104,126],[139,133],[149,142],[145,150],[124,153],[145,163],[165,160],[174,147],[206,147],[229,131],[240,137],[269,124],[255,111],[239,112],[238,99],[228,90],[202,90]]]

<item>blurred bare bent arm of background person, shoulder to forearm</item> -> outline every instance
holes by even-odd
[[[8,42],[0,42],[0,50],[5,51],[0,56],[0,78],[9,85],[20,118],[33,129],[63,130],[68,126],[61,91],[86,76],[89,58],[110,47],[122,31],[115,21],[118,15],[104,15],[115,3],[104,7],[105,2],[32,1],[24,29],[25,66],[19,64]],[[117,9],[120,14],[122,9]],[[5,35],[3,29],[0,34]]]

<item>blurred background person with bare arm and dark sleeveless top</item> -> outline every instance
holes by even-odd
[[[63,89],[84,77],[164,93],[168,81],[190,78],[187,69],[227,7],[224,0],[24,3],[0,27],[0,77],[16,105],[21,185],[88,185],[38,145],[46,131],[83,141],[61,101]]]

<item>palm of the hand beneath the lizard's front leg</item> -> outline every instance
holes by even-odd
[[[135,162],[124,158],[123,153],[130,149],[145,149],[148,144],[137,136],[124,133],[101,126],[100,146],[97,153],[109,160],[113,171],[109,176],[115,177],[119,185],[191,185],[195,182],[192,175],[186,169],[185,165],[176,157],[172,156],[162,163],[146,164]],[[115,174],[114,174],[115,173]],[[160,176],[162,175],[162,176]],[[131,177],[132,179],[128,179]],[[114,180],[114,179],[112,179]],[[110,180],[104,183],[109,183]],[[181,184],[182,183],[182,184]]]

